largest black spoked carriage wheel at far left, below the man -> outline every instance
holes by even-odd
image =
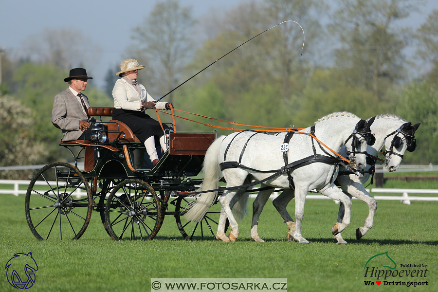
[[[90,223],[93,199],[90,185],[77,167],[55,162],[34,176],[24,204],[27,224],[38,240],[50,236],[78,239]]]

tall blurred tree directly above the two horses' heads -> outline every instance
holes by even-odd
[[[412,39],[408,28],[397,25],[417,11],[422,0],[341,0],[330,25],[342,47],[335,65],[345,70],[348,83],[364,86],[379,99],[405,77],[402,50]]]

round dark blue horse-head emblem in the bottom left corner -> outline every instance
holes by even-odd
[[[38,271],[38,265],[32,257],[32,253],[15,254],[8,260],[5,269],[6,277],[12,287],[29,289],[35,283],[35,272]]]

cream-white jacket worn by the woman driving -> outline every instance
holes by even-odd
[[[153,101],[155,99],[147,93],[146,88],[139,84],[142,91],[139,95],[137,90],[126,82],[124,79],[116,81],[114,88],[112,89],[112,98],[114,99],[114,108],[124,110],[141,110],[141,104],[145,101]],[[157,110],[165,110],[165,102],[156,102],[155,108]]]

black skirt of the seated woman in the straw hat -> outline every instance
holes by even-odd
[[[160,123],[145,112],[114,108],[112,110],[112,119],[125,123],[142,143],[145,143],[146,139],[151,136],[164,135]],[[167,129],[169,127],[163,125],[163,128]]]

